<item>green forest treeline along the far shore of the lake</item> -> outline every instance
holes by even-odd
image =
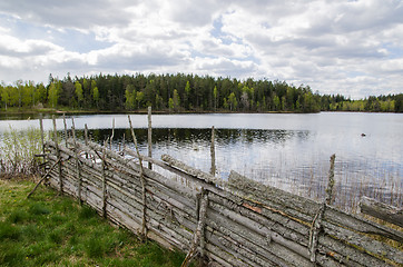
[[[351,100],[341,95],[313,93],[308,86],[295,87],[267,79],[238,80],[197,75],[75,77],[49,76],[47,86],[18,80],[0,86],[0,108],[60,108],[108,111],[403,112],[403,93]]]

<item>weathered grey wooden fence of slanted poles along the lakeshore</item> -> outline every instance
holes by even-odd
[[[402,231],[234,171],[224,181],[168,155],[122,156],[75,138],[45,147],[52,187],[188,253],[184,266],[194,256],[222,266],[403,266]]]

